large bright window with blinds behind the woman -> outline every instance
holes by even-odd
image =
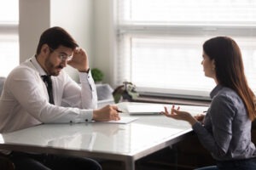
[[[247,80],[256,93],[256,1],[116,0],[115,83],[141,93],[207,98],[202,43],[230,36],[241,48]]]

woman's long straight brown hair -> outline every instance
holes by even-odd
[[[256,118],[255,95],[247,84],[241,50],[230,37],[213,37],[203,44],[204,52],[215,61],[218,83],[241,97],[250,120]]]

